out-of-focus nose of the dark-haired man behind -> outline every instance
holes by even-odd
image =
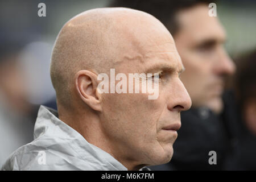
[[[236,65],[230,59],[224,48],[219,49],[218,58],[214,64],[214,71],[218,75],[232,75],[236,71]]]

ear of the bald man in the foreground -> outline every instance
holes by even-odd
[[[76,90],[82,101],[93,110],[101,111],[101,101],[97,91],[97,75],[88,70],[80,70],[76,73]]]

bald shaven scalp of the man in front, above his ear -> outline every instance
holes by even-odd
[[[88,10],[65,23],[51,58],[51,79],[58,104],[72,104],[78,71],[105,73],[121,61],[141,59],[144,52],[150,52],[145,48],[152,39],[152,34],[148,36],[150,31],[162,31],[170,37],[154,16],[126,8]]]

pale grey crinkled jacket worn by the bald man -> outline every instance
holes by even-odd
[[[2,170],[127,170],[107,152],[88,143],[57,112],[40,106],[34,140],[13,152]]]

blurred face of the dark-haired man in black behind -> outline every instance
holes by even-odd
[[[235,67],[223,48],[225,32],[208,11],[206,5],[180,11],[177,14],[180,29],[174,39],[186,68],[181,80],[191,96],[192,106],[207,106],[219,113],[224,76],[232,74]]]

